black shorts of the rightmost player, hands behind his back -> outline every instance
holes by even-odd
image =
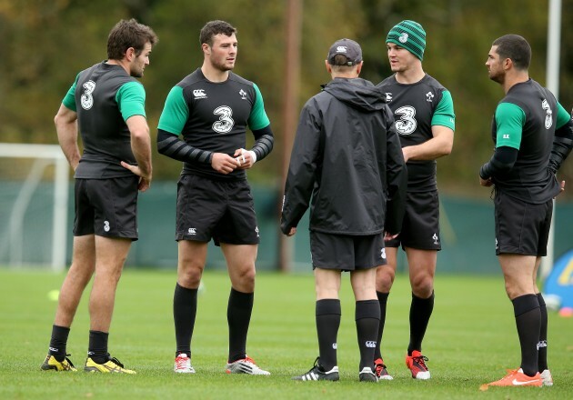
[[[532,205],[496,190],[496,255],[548,254],[553,200]]]

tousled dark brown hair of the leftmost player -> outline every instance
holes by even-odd
[[[136,49],[136,55],[140,55],[146,43],[153,46],[158,41],[156,33],[149,26],[139,24],[134,18],[129,21],[122,19],[107,36],[107,58],[121,60],[129,47]]]

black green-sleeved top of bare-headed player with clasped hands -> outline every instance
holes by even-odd
[[[211,82],[197,68],[171,89],[159,118],[158,129],[183,135],[186,144],[198,151],[233,156],[246,146],[246,128],[251,131],[270,125],[258,87],[229,72],[225,82]],[[203,162],[201,162],[203,161]],[[245,178],[245,170],[223,175],[210,164],[210,157],[186,161],[182,174],[217,179]]]

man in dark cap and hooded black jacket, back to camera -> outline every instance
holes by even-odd
[[[380,307],[375,275],[386,264],[387,237],[401,228],[407,173],[386,95],[358,77],[360,45],[341,39],[330,47],[332,81],[308,100],[297,128],[281,217],[295,235],[310,209],[310,247],[317,283],[319,357],[297,380],[338,380],[338,290],[350,271],[357,300],[361,381],[377,381],[374,347]]]

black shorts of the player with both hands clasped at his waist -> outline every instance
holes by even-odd
[[[255,204],[246,180],[182,175],[177,183],[176,240],[215,245],[259,243]]]

